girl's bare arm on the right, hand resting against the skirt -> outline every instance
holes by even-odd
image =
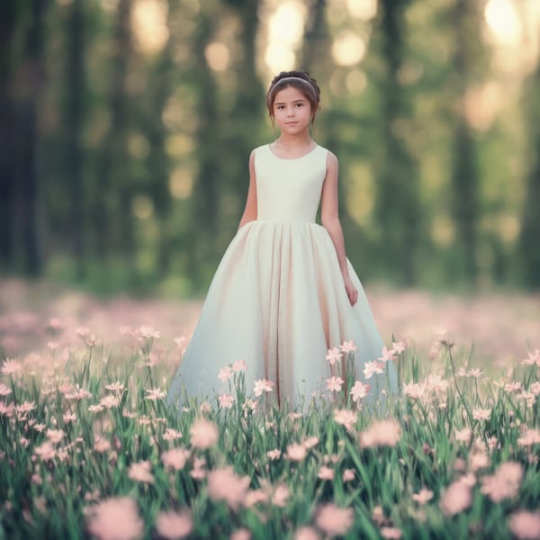
[[[343,281],[347,296],[351,305],[355,305],[358,299],[358,291],[352,283],[347,269],[347,257],[345,254],[345,240],[343,230],[339,222],[338,213],[338,157],[329,152],[327,157],[327,175],[322,184],[320,220],[322,226],[329,231],[330,238],[336,247],[339,268],[343,275]]]

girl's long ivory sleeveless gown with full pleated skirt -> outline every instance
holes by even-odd
[[[214,275],[167,396],[179,405],[189,397],[212,397],[223,384],[220,369],[247,365],[247,392],[255,381],[275,383],[273,395],[290,409],[324,391],[330,376],[330,347],[352,340],[356,378],[365,362],[381,356],[383,340],[355,270],[358,289],[351,306],[327,229],[316,223],[328,150],[284,159],[269,145],[255,150],[257,220],[238,230]],[[378,375],[392,390],[392,362]],[[374,388],[374,378],[370,383]]]

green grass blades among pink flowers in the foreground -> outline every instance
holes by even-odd
[[[301,527],[329,537],[318,517],[322,505],[330,502],[352,512],[346,538],[509,538],[510,516],[539,507],[539,441],[523,444],[526,428],[539,427],[537,365],[517,363],[504,377],[494,372],[477,379],[467,374],[474,357],[456,360],[453,348],[443,343],[435,359],[419,358],[412,350],[396,358],[401,382],[424,385],[424,390],[421,399],[387,401],[386,414],[358,408],[350,396],[341,395],[338,405],[320,400],[302,415],[292,415],[275,406],[271,392],[258,400],[257,410],[250,410],[242,406],[251,389],[244,388],[241,372],[232,384],[238,395],[231,409],[218,408],[216,401],[208,410],[192,401],[178,413],[162,398],[146,399],[148,390],[168,387],[171,365],[179,355],[173,343],[140,334],[121,348],[107,349],[88,336],[80,343],[62,350],[53,345],[40,356],[20,361],[17,373],[7,373],[10,364],[4,364],[0,538],[90,537],[88,509],[117,497],[135,501],[144,524],[139,536],[148,538],[158,537],[157,515],[168,509],[189,510],[193,538],[229,538],[243,529],[252,538],[294,538]],[[123,391],[105,389],[117,381]],[[511,381],[521,383],[520,389],[505,389],[504,383]],[[86,397],[70,398],[76,385],[88,392]],[[104,401],[110,408],[89,410],[111,395],[118,402]],[[334,417],[334,410],[344,407],[357,412],[348,429]],[[479,410],[490,411],[477,419]],[[397,442],[363,445],[366,432],[381,416],[396,420]],[[192,444],[190,430],[201,418],[219,432],[209,448]],[[167,428],[182,437],[164,439],[173,433]],[[466,428],[472,432],[469,440],[463,436]],[[54,440],[49,429],[63,435],[56,434],[54,455],[47,458],[39,452]],[[310,437],[316,439],[301,461],[287,457],[289,445],[309,442]],[[104,442],[104,452],[94,449],[96,439]],[[178,471],[166,468],[161,459],[175,447],[189,452]],[[281,451],[280,457],[270,459],[271,450]],[[218,500],[208,476],[193,478],[197,460],[207,475],[233,467],[236,476],[226,496],[241,477],[248,478],[238,504]],[[151,482],[130,478],[130,466],[142,461],[148,461]],[[523,474],[509,497],[495,502],[483,486],[507,462],[520,464]],[[319,477],[322,466],[333,470],[333,479]],[[346,471],[354,472],[353,480],[344,481]],[[441,500],[455,482],[466,486],[470,500],[451,515],[443,511]],[[284,504],[272,500],[278,486],[288,493]],[[422,489],[433,494],[425,504],[413,498]],[[248,504],[257,493],[260,500]]]

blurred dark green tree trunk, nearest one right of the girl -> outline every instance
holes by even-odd
[[[378,39],[384,64],[379,83],[383,132],[374,166],[374,214],[383,246],[383,263],[390,275],[407,285],[417,280],[415,261],[421,216],[418,166],[403,130],[410,119],[410,97],[399,79],[407,53],[405,11],[409,4],[410,0],[381,2]]]

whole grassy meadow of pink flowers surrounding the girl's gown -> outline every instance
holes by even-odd
[[[246,388],[240,359],[217,366],[222,392],[175,411],[166,389],[196,302],[136,313],[2,293],[0,538],[540,538],[537,299],[484,302],[491,334],[474,347],[455,329],[391,335],[366,384],[349,369],[359,344],[334,344],[327,390],[302,411],[279,409],[266,381]],[[426,297],[402,294],[416,303],[374,293],[383,327],[456,305],[428,317]],[[482,334],[474,321],[449,326]],[[368,406],[386,362],[402,391]]]

